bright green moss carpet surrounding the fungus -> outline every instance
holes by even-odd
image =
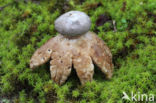
[[[121,99],[123,91],[156,94],[155,5],[153,0],[1,0],[0,100],[122,103],[128,102]],[[85,11],[91,17],[91,30],[110,47],[115,64],[111,80],[106,80],[96,67],[93,82],[81,86],[72,72],[68,81],[58,86],[50,79],[48,63],[30,70],[33,52],[57,34],[54,20],[72,9]],[[105,14],[109,20],[97,25]]]

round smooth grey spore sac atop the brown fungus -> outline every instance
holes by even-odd
[[[62,35],[78,36],[89,31],[90,18],[80,11],[69,11],[55,20],[55,29]]]

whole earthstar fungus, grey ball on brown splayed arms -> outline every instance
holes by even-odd
[[[62,85],[73,65],[81,84],[85,84],[93,79],[94,62],[110,79],[113,74],[112,54],[103,40],[89,31],[90,26],[90,18],[83,12],[70,11],[60,16],[55,21],[55,29],[60,34],[35,51],[30,68],[51,59],[51,78]]]

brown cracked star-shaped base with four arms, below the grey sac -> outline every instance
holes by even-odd
[[[72,65],[81,84],[92,81],[93,62],[108,79],[113,74],[112,54],[109,48],[103,40],[90,31],[79,37],[65,37],[59,34],[51,38],[33,54],[30,67],[34,69],[49,59],[51,78],[59,85],[67,80]]]

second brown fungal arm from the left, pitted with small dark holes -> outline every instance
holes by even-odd
[[[72,69],[72,55],[68,51],[57,51],[52,53],[50,61],[51,78],[54,82],[62,85],[68,78]]]

